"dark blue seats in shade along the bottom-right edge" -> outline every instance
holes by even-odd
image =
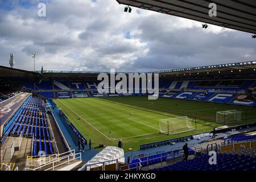
[[[256,158],[246,155],[218,154],[217,164],[209,164],[209,156],[205,154],[201,157],[188,160],[187,162],[177,162],[171,166],[153,169],[153,171],[255,171]]]

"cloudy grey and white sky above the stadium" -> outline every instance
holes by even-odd
[[[38,4],[46,3],[46,17]],[[0,65],[33,70],[147,72],[256,60],[251,34],[115,0],[0,0]]]

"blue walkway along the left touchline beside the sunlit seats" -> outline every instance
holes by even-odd
[[[51,105],[50,102],[48,102],[48,104]],[[52,107],[52,105],[51,105],[51,107]],[[61,131],[63,132],[63,135],[65,136],[65,139],[68,142],[69,148],[71,150],[76,150],[76,152],[79,152],[78,144],[77,144],[77,140],[78,140],[77,135],[71,129],[71,127],[68,125],[68,123],[64,120],[64,118],[60,117],[59,112],[60,112],[60,110],[57,107],[55,107],[55,109],[52,111],[54,117],[56,118],[58,125],[60,126]],[[99,151],[95,150],[94,148],[89,150],[89,146],[86,145],[85,151],[81,152],[82,161],[85,163],[88,162],[88,160],[92,159],[96,154],[98,154],[98,152]]]

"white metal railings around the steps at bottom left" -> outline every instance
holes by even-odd
[[[67,154],[67,155],[64,155]],[[60,157],[61,155],[64,155]],[[48,158],[48,161],[46,160]],[[38,169],[43,169],[45,171],[52,170],[54,171],[56,167],[63,166],[63,165],[69,165],[73,160],[81,159],[81,152],[76,153],[75,150],[64,152],[63,154],[56,154],[55,157],[53,156],[47,156],[46,158],[39,158],[39,160],[36,161],[34,164],[38,164],[38,166],[35,166],[34,168],[26,167],[24,168],[24,171],[36,171]]]

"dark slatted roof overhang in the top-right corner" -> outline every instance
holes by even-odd
[[[216,26],[256,34],[255,0],[116,0],[141,9],[179,16]],[[217,17],[210,17],[209,3],[216,3]]]

